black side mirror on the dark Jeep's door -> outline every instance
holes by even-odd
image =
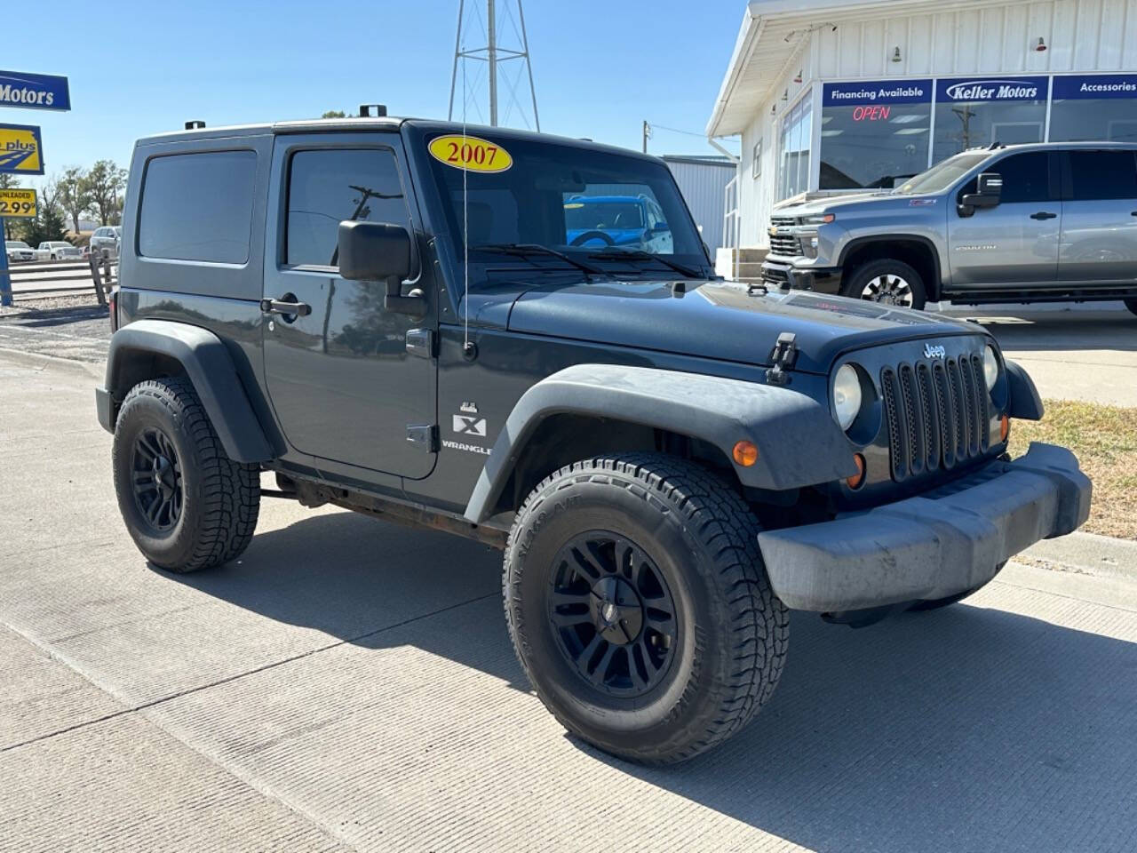
[[[402,296],[410,275],[410,233],[385,222],[341,222],[337,255],[340,275],[349,281],[385,281],[383,307],[398,314],[425,314],[421,291]]]

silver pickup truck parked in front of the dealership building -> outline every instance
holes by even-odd
[[[895,190],[782,206],[762,278],[911,308],[1121,299],[1137,314],[1137,146],[994,146]]]

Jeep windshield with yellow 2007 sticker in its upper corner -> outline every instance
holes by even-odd
[[[711,274],[699,233],[663,164],[478,133],[465,168],[460,135],[424,139],[453,245],[459,255],[468,248],[471,265],[599,267],[621,278]],[[497,168],[503,162],[508,165]]]

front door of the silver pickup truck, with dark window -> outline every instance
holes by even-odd
[[[1003,179],[999,204],[970,215],[948,212],[953,287],[1003,289],[1057,280],[1062,202],[1057,160],[1046,151],[1004,157],[982,167]],[[955,201],[976,191],[972,177]]]

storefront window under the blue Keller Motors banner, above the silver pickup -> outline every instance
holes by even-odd
[[[1041,142],[1047,97],[1046,77],[938,81],[932,162],[993,142]]]

